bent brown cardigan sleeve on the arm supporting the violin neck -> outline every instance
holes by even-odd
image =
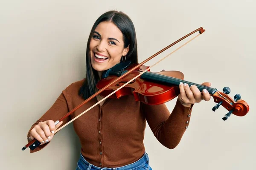
[[[142,104],[145,118],[157,140],[169,149],[175,148],[189,126],[193,105],[183,106],[177,99],[176,105],[169,112],[165,104],[146,105]]]

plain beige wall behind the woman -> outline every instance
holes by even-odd
[[[0,104],[3,170],[74,170],[80,144],[72,124],[45,149],[30,154],[29,127],[61,91],[85,75],[87,37],[105,11],[127,13],[137,31],[139,62],[199,27],[206,29],[151,71],[178,70],[212,82],[250,105],[244,117],[221,118],[213,100],[196,104],[180,144],[163,147],[147,126],[145,147],[154,170],[253,170],[256,166],[256,3],[253,0],[5,0],[0,3]],[[194,34],[196,35],[196,34]],[[189,40],[189,39],[186,39]],[[181,45],[181,43],[179,43]],[[175,45],[178,47],[179,45]],[[175,47],[147,63],[172,52]],[[166,103],[170,111],[175,100]]]

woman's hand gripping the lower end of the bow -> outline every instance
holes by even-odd
[[[39,122],[38,125],[30,130],[30,139],[37,139],[41,142],[40,145],[50,142],[54,135],[55,130],[62,124],[63,122],[59,122],[56,126],[53,120],[47,120],[44,122]]]

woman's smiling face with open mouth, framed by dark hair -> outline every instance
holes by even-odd
[[[103,72],[120,62],[128,53],[124,48],[122,32],[111,22],[102,22],[96,27],[90,40],[90,57],[93,69]]]

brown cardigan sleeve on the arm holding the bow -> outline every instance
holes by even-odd
[[[27,136],[30,136],[30,130],[32,130],[33,127],[35,127],[35,125],[38,125],[39,122],[44,122],[46,120],[53,120],[54,122],[57,121],[58,119],[60,119],[62,116],[64,116],[66,113],[69,112],[69,108],[68,108],[68,104],[67,104],[67,98],[69,97],[68,92],[67,92],[67,88],[62,91],[62,93],[58,96],[58,98],[56,99],[56,101],[53,103],[53,105],[49,108],[49,110],[44,113],[40,119],[38,119],[29,129]],[[63,123],[61,124],[61,126],[65,125],[67,122],[70,121],[70,116],[67,117],[66,119],[63,120]],[[60,127],[61,127],[60,126]],[[59,127],[58,127],[59,128]],[[58,133],[58,132],[57,132]],[[55,133],[56,134],[56,133]],[[29,142],[29,141],[28,141]],[[41,149],[43,149],[44,147],[46,147],[51,141],[39,145],[38,147],[36,147],[34,150],[30,149],[30,153],[35,153]]]

